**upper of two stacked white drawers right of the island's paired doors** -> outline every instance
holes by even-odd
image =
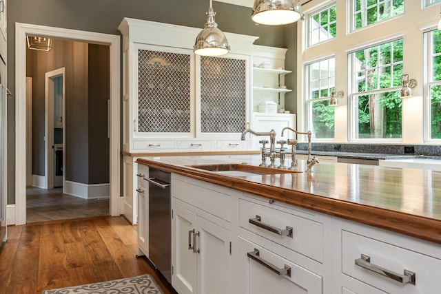
[[[256,223],[257,216],[260,217],[260,222]],[[243,229],[252,231],[313,260],[323,262],[323,224],[321,222],[240,199],[239,223]],[[285,231],[287,227],[291,227],[292,236],[278,235],[269,228],[263,228],[265,224]]]

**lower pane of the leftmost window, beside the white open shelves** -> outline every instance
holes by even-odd
[[[312,136],[314,138],[334,138],[334,111],[336,107],[329,106],[329,101],[315,101],[312,109]]]

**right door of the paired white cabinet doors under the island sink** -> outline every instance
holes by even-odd
[[[230,231],[198,217],[198,293],[234,293]]]

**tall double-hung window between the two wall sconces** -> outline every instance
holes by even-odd
[[[401,138],[402,39],[349,54],[353,76],[352,138]]]

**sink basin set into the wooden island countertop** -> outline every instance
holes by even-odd
[[[258,167],[256,165],[245,165],[242,163],[223,163],[216,165],[188,165],[195,169],[203,169],[205,171],[213,171],[216,174],[225,174],[227,176],[256,176],[268,174],[292,174],[301,173],[302,171],[290,171],[287,169],[275,169],[271,167]]]

